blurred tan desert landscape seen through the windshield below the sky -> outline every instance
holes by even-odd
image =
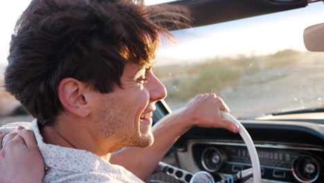
[[[324,54],[286,49],[155,67],[171,109],[196,94],[221,96],[236,117],[324,107]]]

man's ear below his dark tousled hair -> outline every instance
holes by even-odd
[[[74,78],[64,78],[57,87],[58,97],[64,107],[76,116],[84,117],[91,112],[87,92],[89,87]]]

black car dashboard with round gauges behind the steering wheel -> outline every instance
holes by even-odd
[[[260,159],[262,182],[324,182],[324,125],[312,121],[241,121]],[[240,134],[195,127],[174,144],[180,168],[215,180],[251,167]],[[247,182],[253,182],[248,180]]]

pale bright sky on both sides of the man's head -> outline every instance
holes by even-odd
[[[3,1],[0,8],[0,65],[6,65],[10,35],[15,22],[30,0]],[[159,0],[147,4],[161,3]],[[307,26],[324,22],[323,2],[311,3],[307,8],[277,12],[228,21],[211,26],[172,31],[177,44],[163,44],[157,51],[159,58],[200,60],[214,56],[260,55],[280,49],[305,51],[303,30]]]

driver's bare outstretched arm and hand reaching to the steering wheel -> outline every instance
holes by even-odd
[[[174,141],[192,126],[226,128],[238,132],[237,125],[222,119],[219,110],[229,112],[222,99],[216,97],[215,94],[198,95],[188,104],[186,110],[154,130],[152,146],[124,148],[111,155],[110,162],[124,166],[142,180],[146,180]]]

